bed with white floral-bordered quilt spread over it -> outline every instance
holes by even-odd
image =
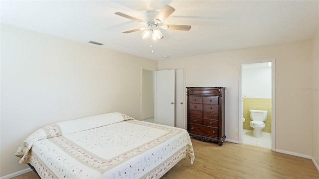
[[[15,156],[42,179],[158,179],[195,159],[186,130],[117,112],[45,126]]]

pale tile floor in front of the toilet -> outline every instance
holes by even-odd
[[[243,143],[271,149],[271,133],[263,132],[262,137],[253,136],[253,130],[243,129]]]

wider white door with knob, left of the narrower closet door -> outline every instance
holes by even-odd
[[[156,72],[156,123],[175,126],[175,70]]]

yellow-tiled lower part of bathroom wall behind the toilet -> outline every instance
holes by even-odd
[[[264,122],[266,127],[263,129],[263,132],[271,133],[271,99],[243,97],[243,117],[245,118],[243,128],[253,130],[253,128],[249,127],[251,121],[249,115],[250,109],[268,111],[267,119]]]

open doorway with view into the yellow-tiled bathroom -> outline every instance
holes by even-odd
[[[275,151],[275,59],[246,61],[239,66],[239,143]],[[265,114],[258,125],[251,118],[252,110]]]

